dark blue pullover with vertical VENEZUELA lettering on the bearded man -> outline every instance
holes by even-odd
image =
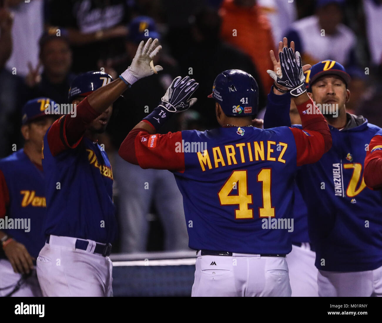
[[[290,124],[290,99],[283,107],[267,105],[264,125]],[[354,116],[353,116],[354,117]],[[326,271],[366,271],[382,266],[382,193],[369,190],[363,179],[366,151],[380,128],[364,119],[358,126],[339,131],[329,125],[332,148],[322,158],[302,166],[296,176],[299,190],[308,208],[309,238],[316,248],[316,267]],[[301,128],[301,125],[294,125]],[[295,203],[301,204],[297,200]],[[303,217],[302,217],[303,219]],[[298,230],[306,224],[296,221]]]

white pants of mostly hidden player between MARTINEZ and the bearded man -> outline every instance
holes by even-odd
[[[308,242],[301,243],[301,247],[292,245],[292,251],[286,255],[292,297],[318,297],[315,260],[316,253]]]

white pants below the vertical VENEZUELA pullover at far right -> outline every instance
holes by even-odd
[[[321,297],[382,296],[382,266],[367,271],[318,271],[318,295]]]

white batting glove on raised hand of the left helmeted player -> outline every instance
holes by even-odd
[[[158,45],[158,42],[159,41],[156,38],[154,41],[149,38],[146,44],[144,44],[144,41],[141,41],[135,57],[133,58],[133,62],[131,62],[128,69],[120,75],[120,78],[126,84],[132,85],[141,78],[150,76],[154,73],[157,74],[157,72],[163,70],[162,66],[154,66],[152,63],[153,58],[158,54],[159,50],[162,49],[162,46]]]

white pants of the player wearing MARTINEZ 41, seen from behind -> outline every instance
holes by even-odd
[[[195,267],[193,297],[291,295],[284,257],[202,256],[199,250]]]

